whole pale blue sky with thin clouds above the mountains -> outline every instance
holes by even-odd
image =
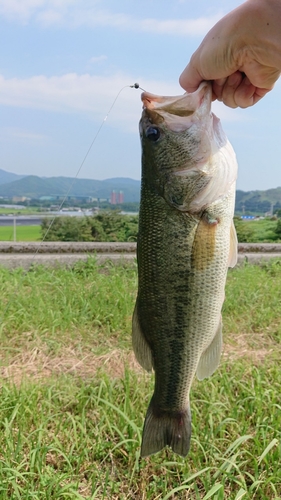
[[[235,0],[0,0],[0,168],[74,177],[118,92],[178,95],[178,77]],[[125,87],[80,178],[140,179],[139,90]],[[238,158],[237,188],[281,186],[281,82],[253,108],[213,111]]]

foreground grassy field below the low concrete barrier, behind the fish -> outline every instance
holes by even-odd
[[[139,457],[153,377],[131,353],[135,266],[0,273],[1,500],[280,500],[280,262],[229,273],[186,459]]]

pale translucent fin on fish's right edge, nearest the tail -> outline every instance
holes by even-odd
[[[207,349],[201,354],[196,371],[198,380],[210,377],[214,373],[220,363],[221,351],[222,321],[220,320],[215,337]]]

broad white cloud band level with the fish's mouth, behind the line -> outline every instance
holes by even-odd
[[[135,131],[141,114],[141,101],[140,91],[129,88],[134,83],[135,80],[130,75],[122,73],[110,76],[69,73],[49,78],[39,75],[27,79],[5,79],[0,75],[0,104],[50,112],[79,113],[101,122],[120,92],[110,112],[110,123],[127,131]],[[145,90],[159,95],[182,93],[179,85],[148,80],[141,76],[139,84]],[[241,119],[239,110],[230,110],[220,103],[215,103],[214,108],[215,113],[223,120]]]

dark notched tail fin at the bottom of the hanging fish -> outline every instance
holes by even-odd
[[[141,456],[147,457],[166,445],[185,457],[190,448],[191,414],[189,406],[184,411],[162,411],[149,404],[142,435]]]

